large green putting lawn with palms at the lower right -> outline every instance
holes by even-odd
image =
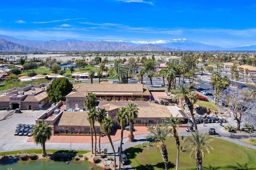
[[[168,167],[170,170],[174,170],[176,168],[176,144],[174,142],[174,138],[168,137],[166,139],[168,160],[170,161]],[[137,145],[128,148],[125,151],[128,159],[131,161],[131,166],[136,170],[164,169],[164,163],[160,151],[156,152],[156,146],[150,146],[149,149],[147,149],[145,145],[146,142],[144,144],[144,148],[141,148],[140,145]],[[181,142],[180,145],[186,146],[187,143]],[[210,150],[210,154],[207,152],[205,153],[205,157],[203,158],[203,169],[234,170],[238,169],[240,167],[239,165],[244,167],[246,164],[248,167],[244,167],[242,169],[246,170],[249,168],[256,168],[256,150],[218,138],[213,138],[209,145],[212,146],[214,150]],[[187,147],[183,152],[180,152],[180,170],[196,169],[195,160],[190,158],[191,150],[192,148]]]

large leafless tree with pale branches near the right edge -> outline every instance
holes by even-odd
[[[226,98],[230,113],[237,122],[237,130],[240,130],[242,117],[255,108],[255,99],[252,99],[250,96],[251,91],[243,90],[240,93],[232,92]]]

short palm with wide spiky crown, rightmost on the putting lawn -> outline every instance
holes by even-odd
[[[197,170],[202,170],[202,158],[204,158],[205,150],[210,153],[210,149],[213,150],[211,146],[208,146],[210,138],[207,137],[206,132],[204,134],[199,134],[198,131],[192,133],[192,137],[188,137],[186,142],[191,142],[189,145],[192,148],[190,153],[191,158],[196,158]],[[187,146],[186,146],[187,147]]]

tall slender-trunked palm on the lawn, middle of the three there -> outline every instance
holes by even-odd
[[[180,140],[179,140],[179,135],[178,135],[178,128],[179,128],[179,123],[182,121],[182,119],[178,119],[176,117],[171,117],[168,119],[168,131],[171,132],[174,136],[176,146],[178,148],[177,150],[177,159],[176,159],[176,170],[179,168],[179,158],[180,158]]]

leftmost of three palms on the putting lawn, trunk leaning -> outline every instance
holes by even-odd
[[[150,134],[147,136],[147,138],[152,138],[156,142],[157,152],[160,149],[165,169],[168,170],[168,152],[166,149],[166,144],[164,143],[168,134],[168,130],[166,127],[160,127],[159,125],[156,125],[155,129],[150,128],[149,131]]]

